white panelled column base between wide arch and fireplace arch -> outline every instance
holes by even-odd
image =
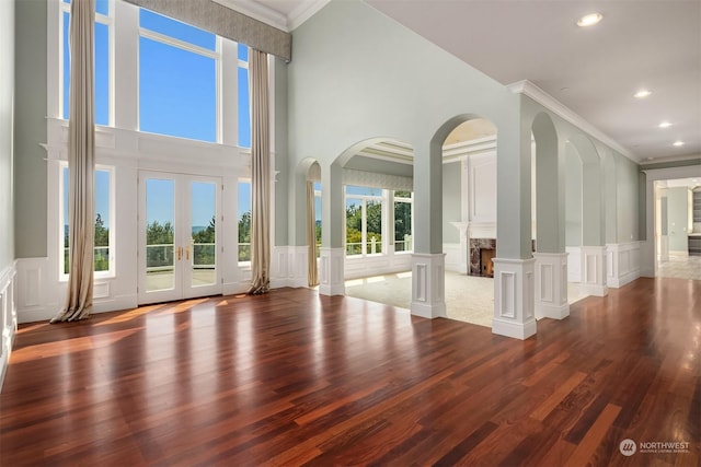
[[[414,316],[446,316],[445,254],[412,255],[412,304]]]

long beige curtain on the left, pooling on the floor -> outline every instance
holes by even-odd
[[[93,94],[94,0],[70,5],[70,110],[68,120],[68,211],[70,277],[68,295],[51,319],[87,318],[92,308],[95,177],[95,117]]]

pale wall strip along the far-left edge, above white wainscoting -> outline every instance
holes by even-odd
[[[0,9],[0,275],[14,260],[12,197],[12,105],[14,95],[14,0],[1,0]]]

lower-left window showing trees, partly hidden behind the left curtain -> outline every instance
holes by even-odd
[[[61,272],[68,275],[70,272],[69,258],[69,217],[68,217],[68,166],[61,168],[61,245],[64,247],[64,262]],[[114,244],[114,230],[111,226],[113,222],[113,171],[108,167],[99,167],[95,170],[95,245],[94,245],[94,271],[95,276],[111,276],[114,272],[114,252],[110,250],[110,245]]]

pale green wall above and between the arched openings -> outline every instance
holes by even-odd
[[[440,214],[430,202],[439,202],[443,170],[438,166],[434,175],[428,162],[437,132],[482,116],[496,125],[504,154],[519,156],[518,95],[360,1],[332,1],[295,30],[288,79],[290,167],[312,157],[323,173],[348,149],[371,139],[413,147],[418,253],[443,250],[443,222],[430,221]],[[504,165],[514,166],[506,159]],[[501,255],[519,257],[524,242],[515,238],[530,229],[530,214],[522,219],[520,209],[529,201],[520,200],[521,175],[502,175],[508,176],[499,182],[506,187]],[[429,176],[435,176],[432,185]],[[530,182],[530,172],[528,176]],[[429,197],[429,190],[438,196]],[[343,224],[341,202],[323,210],[331,223]],[[298,222],[295,211],[303,212],[301,200],[290,207],[290,222]],[[289,231],[294,236],[301,232]],[[295,237],[290,243],[303,244]]]

